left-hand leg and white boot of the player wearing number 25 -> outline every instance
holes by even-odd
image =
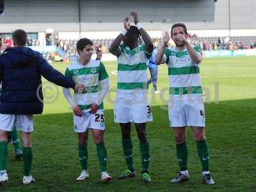
[[[82,168],[82,173],[77,177],[76,180],[84,180],[89,177],[87,171],[87,162],[88,162],[88,149],[87,149],[87,141],[88,141],[88,129],[85,132],[77,132],[78,136],[78,156],[79,161]]]

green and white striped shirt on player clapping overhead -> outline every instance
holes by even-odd
[[[147,92],[147,68],[151,54],[145,51],[145,45],[139,45],[131,50],[121,44],[120,50],[121,54],[117,58],[117,92]]]

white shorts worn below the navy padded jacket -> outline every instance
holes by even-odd
[[[13,127],[23,132],[34,131],[33,115],[0,114],[0,130],[13,131]]]

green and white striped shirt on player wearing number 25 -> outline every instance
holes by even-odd
[[[97,101],[98,93],[101,90],[100,82],[109,81],[106,68],[99,60],[91,60],[87,65],[81,65],[79,61],[74,61],[67,67],[65,76],[72,78],[75,83],[86,86],[83,93],[75,92],[74,96],[76,104],[82,111],[90,109],[91,104]],[[104,109],[103,102],[99,109]]]

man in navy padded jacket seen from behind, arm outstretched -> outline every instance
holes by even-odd
[[[32,164],[31,132],[33,115],[43,111],[42,76],[54,84],[74,90],[84,86],[75,84],[47,63],[42,54],[25,47],[26,31],[13,32],[13,48],[6,49],[0,56],[0,184],[8,180],[6,173],[7,132],[14,125],[20,130],[23,141],[24,177],[23,183],[35,179],[30,175]]]

